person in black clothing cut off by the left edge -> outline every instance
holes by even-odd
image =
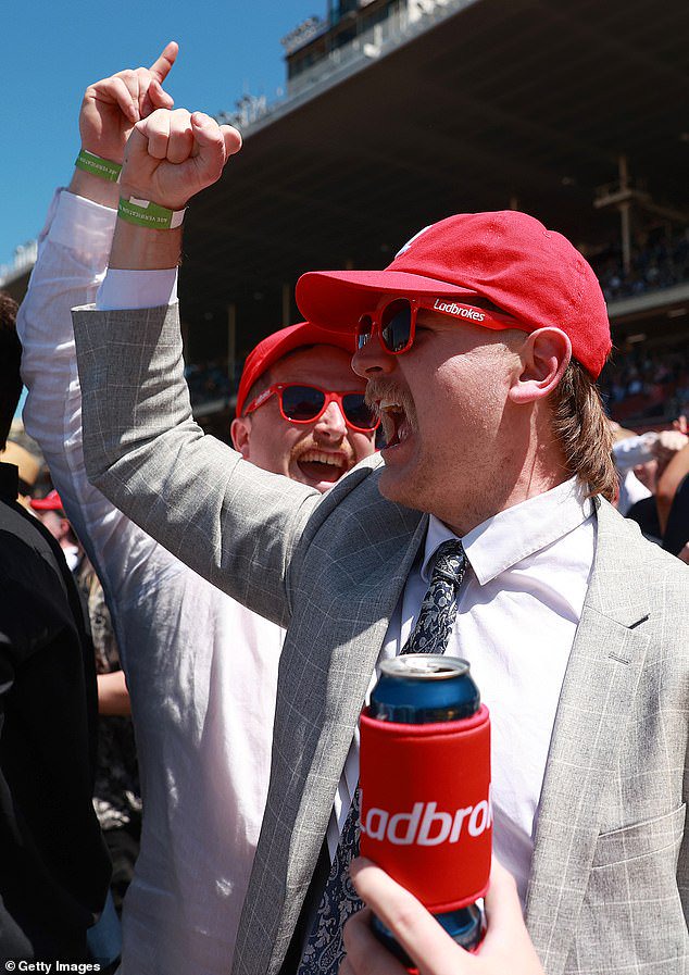
[[[16,410],[16,304],[0,296],[0,449]],[[93,648],[60,546],[0,464],[0,960],[87,961],[110,861],[91,804]]]

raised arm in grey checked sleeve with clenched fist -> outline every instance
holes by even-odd
[[[154,112],[127,143],[125,203],[178,212],[239,146],[235,129],[206,115]],[[117,220],[111,268],[172,268],[179,248],[179,228],[131,223],[127,212]],[[76,310],[74,325],[91,480],[195,571],[286,623],[286,566],[320,496],[203,436],[191,417],[176,308]]]

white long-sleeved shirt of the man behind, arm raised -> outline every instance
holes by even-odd
[[[265,808],[284,632],[183,565],[87,480],[70,310],[95,298],[115,216],[64,190],[53,200],[17,323],[24,420],[103,584],[131,696],[143,835],[121,971],[227,975]],[[162,293],[145,287],[149,304],[167,300],[161,280]]]

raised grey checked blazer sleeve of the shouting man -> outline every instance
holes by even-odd
[[[192,570],[286,625],[290,558],[321,496],[193,422],[177,305],[75,309],[73,321],[91,482]]]

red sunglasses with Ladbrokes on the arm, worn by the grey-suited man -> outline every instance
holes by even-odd
[[[387,352],[392,355],[409,352],[414,345],[419,309],[440,312],[463,322],[480,325],[483,328],[499,330],[524,327],[510,315],[500,314],[492,309],[489,311],[485,308],[474,308],[451,298],[430,298],[425,301],[417,298],[393,298],[375,312],[366,312],[361,316],[355,329],[356,348],[363,349],[378,333],[383,348]]]

